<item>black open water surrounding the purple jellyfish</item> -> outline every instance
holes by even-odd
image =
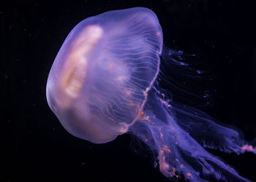
[[[167,181],[148,152],[122,135],[95,145],[73,137],[50,111],[45,86],[69,31],[86,17],[148,7],[168,47],[211,63],[211,104],[199,107],[256,138],[256,1],[7,1],[0,6],[0,181]],[[219,155],[256,181],[252,154]]]

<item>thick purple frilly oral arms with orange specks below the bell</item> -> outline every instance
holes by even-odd
[[[157,90],[148,92],[143,118],[129,127],[129,132],[138,136],[146,143],[148,149],[157,154],[159,170],[163,175],[172,179],[178,179],[184,175],[184,178],[189,181],[248,181],[222,159],[206,151],[200,145],[200,140],[196,140],[186,127],[181,127],[178,119],[188,119],[188,116],[178,113],[178,104],[173,103],[170,107],[169,104],[160,102],[158,94]],[[173,111],[174,108],[176,108],[176,114]],[[198,125],[199,128],[202,127],[200,122]],[[203,126],[200,129],[203,130],[204,127],[207,128]],[[203,138],[203,135],[199,137]],[[214,140],[216,135],[212,137]]]

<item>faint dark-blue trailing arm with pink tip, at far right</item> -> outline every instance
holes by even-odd
[[[217,124],[216,119],[196,108],[174,105],[171,109],[176,115],[178,125],[203,147],[228,153],[243,154],[249,151],[256,154],[255,144],[244,141],[240,130]]]

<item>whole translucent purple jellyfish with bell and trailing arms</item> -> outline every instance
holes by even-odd
[[[86,141],[108,143],[124,133],[135,135],[171,180],[248,181],[206,149],[256,153],[255,142],[203,111],[164,97],[157,79],[163,56],[162,28],[150,9],[86,18],[53,62],[48,105],[69,133]]]

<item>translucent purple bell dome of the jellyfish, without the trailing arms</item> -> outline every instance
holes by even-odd
[[[112,141],[143,114],[161,52],[162,29],[150,9],[89,17],[72,29],[54,60],[48,104],[72,135]]]

